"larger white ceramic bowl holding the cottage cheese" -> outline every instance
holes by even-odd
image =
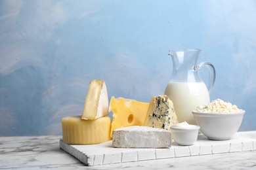
[[[242,112],[204,113],[194,112],[200,131],[211,140],[228,140],[239,129],[245,110]]]

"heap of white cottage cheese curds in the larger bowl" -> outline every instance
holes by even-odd
[[[194,112],[221,113],[221,112],[241,112],[236,105],[224,102],[221,99],[215,99],[207,105],[198,106]]]

